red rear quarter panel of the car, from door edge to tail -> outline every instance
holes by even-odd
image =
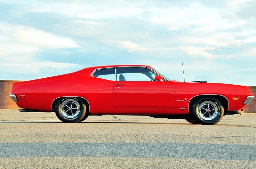
[[[51,111],[52,102],[66,96],[82,97],[89,102],[90,108],[113,109],[114,82],[91,77],[91,72],[83,69],[71,74],[19,82],[13,87],[12,94],[18,97],[17,105],[25,109]],[[20,95],[26,95],[26,98],[19,99]]]

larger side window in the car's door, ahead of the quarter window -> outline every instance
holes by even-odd
[[[124,67],[116,69],[117,81],[155,81],[155,75],[144,67]]]

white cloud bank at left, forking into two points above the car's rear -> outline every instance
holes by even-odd
[[[29,26],[3,22],[0,22],[0,33],[2,33],[0,38],[0,72],[30,75],[28,80],[31,79],[30,77],[33,77],[32,79],[41,77],[42,74],[49,76],[68,73],[81,67],[73,63],[39,62],[36,60],[36,53],[43,49],[78,47],[76,42],[69,38],[56,36]],[[44,69],[44,73],[41,72],[42,69]],[[9,78],[13,79],[12,77]]]

